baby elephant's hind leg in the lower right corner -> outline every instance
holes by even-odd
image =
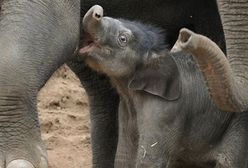
[[[248,166],[248,115],[234,114],[218,149],[214,152],[216,168],[247,168]],[[237,138],[238,137],[238,138]]]

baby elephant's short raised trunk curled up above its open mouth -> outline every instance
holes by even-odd
[[[92,37],[95,37],[101,25],[103,8],[99,5],[91,7],[83,18],[83,28]]]

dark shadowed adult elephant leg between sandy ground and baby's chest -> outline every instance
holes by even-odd
[[[119,96],[108,78],[94,72],[83,62],[74,60],[68,66],[77,74],[89,97],[93,167],[114,167]]]

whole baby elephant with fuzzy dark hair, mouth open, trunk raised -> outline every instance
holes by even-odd
[[[81,57],[120,95],[116,168],[247,168],[247,115],[217,109],[194,60],[172,55],[164,31],[103,17],[97,5],[83,28]]]

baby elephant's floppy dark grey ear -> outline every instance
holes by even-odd
[[[181,80],[174,59],[170,55],[153,58],[146,66],[137,69],[128,87],[166,100],[178,99]]]

